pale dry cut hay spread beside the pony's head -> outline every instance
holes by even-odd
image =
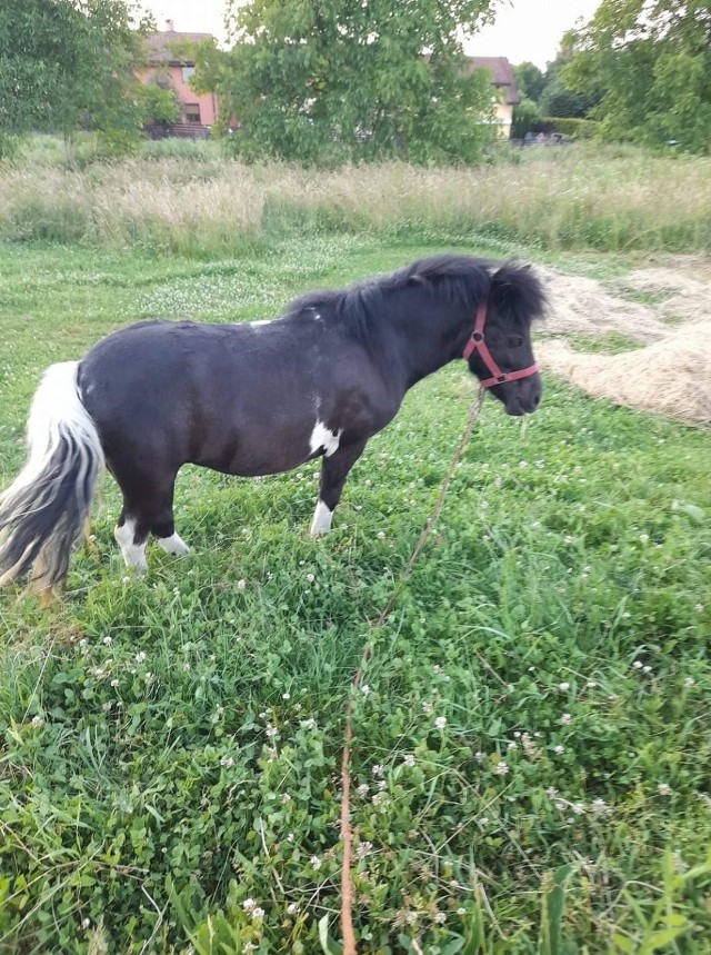
[[[542,368],[617,405],[711,426],[711,285],[672,270],[633,272],[619,288],[657,300],[641,305],[591,279],[548,272],[543,278],[551,301],[545,334],[600,336],[614,329],[645,347],[584,354],[564,341],[543,340],[535,348]]]

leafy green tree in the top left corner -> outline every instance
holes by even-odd
[[[0,7],[0,132],[90,123],[121,142],[142,122],[134,68],[151,22],[124,0],[14,0]]]

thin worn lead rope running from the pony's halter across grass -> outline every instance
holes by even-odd
[[[484,400],[485,389],[480,388],[477,398],[471,406],[469,411],[469,417],[467,418],[467,424],[464,425],[464,430],[462,431],[462,437],[459,442],[457,450],[450,461],[449,470],[444,476],[444,480],[440,485],[439,494],[432,505],[432,510],[430,511],[430,516],[427,519],[424,527],[422,528],[422,533],[418,539],[418,543],[414,545],[414,549],[410,555],[410,559],[407,563],[407,566],[400,577],[400,580],[395,585],[392,594],[390,595],[388,603],[383,607],[380,616],[375,620],[374,624],[369,624],[368,629],[370,630],[370,637],[368,643],[363,648],[363,654],[360,658],[360,664],[358,665],[358,669],[353,675],[353,679],[351,680],[350,694],[348,697],[348,705],[346,707],[346,729],[343,733],[343,755],[341,757],[341,843],[343,845],[343,862],[341,864],[341,933],[343,936],[343,955],[357,955],[356,948],[356,935],[353,933],[353,883],[351,881],[351,843],[352,843],[352,833],[351,833],[351,820],[350,820],[350,788],[351,788],[351,776],[350,776],[350,759],[351,759],[351,742],[353,738],[353,697],[356,695],[356,690],[360,687],[361,682],[363,679],[363,670],[365,668],[365,664],[371,658],[373,649],[374,649],[374,634],[375,631],[384,624],[388,619],[390,611],[392,610],[394,603],[398,598],[398,594],[400,593],[400,588],[408,579],[412,571],[412,567],[414,566],[414,561],[418,559],[420,551],[424,547],[424,544],[432,533],[432,528],[437,524],[437,519],[442,509],[442,505],[444,503],[444,495],[447,494],[447,489],[450,485],[452,477],[454,476],[454,470],[457,465],[460,461],[462,454],[464,452],[464,448],[469,442],[469,438],[471,437],[472,428],[479,417],[479,412],[481,411],[481,406]]]

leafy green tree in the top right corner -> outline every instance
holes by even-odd
[[[577,52],[561,79],[604,90],[594,115],[608,139],[678,140],[711,151],[711,3],[603,0],[573,31]]]

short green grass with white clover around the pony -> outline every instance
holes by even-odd
[[[110,329],[264,318],[428,251],[2,247],[0,483],[41,370]],[[0,596],[0,951],[339,951],[349,684],[473,391],[461,364],[409,395],[328,539],[317,464],[186,469],[192,555],[127,583],[107,480],[63,608]],[[710,464],[708,432],[550,379],[524,422],[487,400],[356,700],[360,951],[711,951]]]

